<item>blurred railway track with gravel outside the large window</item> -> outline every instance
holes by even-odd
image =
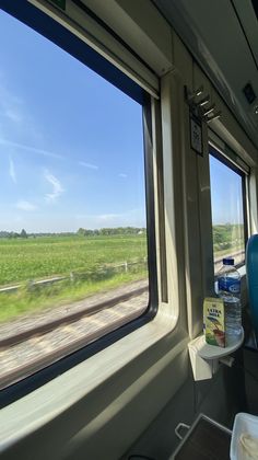
[[[69,306],[74,308],[72,312],[62,306],[62,315],[57,312],[59,318],[42,324],[37,319],[34,329],[33,319],[27,327],[24,320],[21,330],[9,336],[8,329],[1,331],[0,327],[0,389],[139,317],[148,306],[148,284],[138,281],[130,286],[130,290],[128,288],[92,296]]]

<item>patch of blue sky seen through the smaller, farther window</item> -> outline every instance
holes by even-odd
[[[243,223],[242,177],[210,157],[212,223]]]

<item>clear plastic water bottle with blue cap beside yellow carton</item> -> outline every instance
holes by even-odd
[[[231,341],[242,333],[241,275],[232,257],[223,258],[223,267],[218,274],[218,290],[224,302],[225,336]]]

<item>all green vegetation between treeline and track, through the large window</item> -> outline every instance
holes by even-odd
[[[22,285],[16,292],[0,294],[0,321],[7,321],[146,277],[146,237],[0,239],[0,286]],[[55,276],[66,279],[33,285]]]

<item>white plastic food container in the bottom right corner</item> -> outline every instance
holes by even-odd
[[[249,457],[247,453],[245,453],[242,448],[239,442],[239,437],[242,434],[248,434],[258,439],[258,417],[255,415],[245,414],[244,412],[241,412],[235,416],[231,439],[231,460],[254,459],[254,457]]]

